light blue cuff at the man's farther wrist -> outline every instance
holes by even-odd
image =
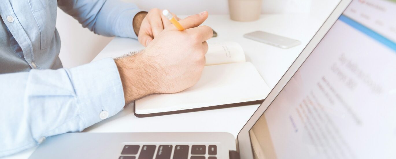
[[[135,15],[143,10],[139,9],[130,9],[130,10],[124,10],[120,13],[119,17],[119,27],[117,33],[121,37],[124,38],[135,38],[137,39],[137,35],[135,34],[135,31],[133,30],[133,18]]]

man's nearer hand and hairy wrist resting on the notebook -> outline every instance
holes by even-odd
[[[206,62],[206,40],[213,36],[210,27],[198,27],[206,18],[204,11],[182,19],[185,31],[166,27],[145,50],[116,60],[126,103],[148,94],[180,92],[198,82]]]

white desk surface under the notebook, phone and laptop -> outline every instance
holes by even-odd
[[[228,15],[209,15],[204,25],[212,27],[218,33],[218,37],[208,40],[209,43],[235,41],[241,44],[247,61],[255,65],[268,86],[273,88],[325,21],[332,8],[327,6],[321,16],[262,15],[261,19],[253,22],[232,21]],[[290,49],[281,49],[243,38],[243,34],[257,30],[294,38],[302,44]],[[105,57],[118,57],[129,51],[141,49],[143,47],[137,40],[114,38],[93,61]],[[237,136],[258,106],[147,118],[135,117],[132,107],[129,106],[117,115],[86,128],[84,132],[230,132]],[[34,149],[4,159],[27,159]]]

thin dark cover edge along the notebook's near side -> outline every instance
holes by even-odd
[[[264,100],[255,100],[255,101],[249,101],[249,102],[231,103],[231,104],[215,105],[215,106],[209,106],[209,107],[177,110],[177,111],[166,111],[166,112],[161,112],[161,113],[137,114],[135,111],[136,104],[135,104],[135,101],[133,101],[133,114],[135,114],[135,116],[139,117],[139,118],[141,118],[141,117],[155,117],[155,116],[161,116],[161,115],[189,113],[189,112],[194,112],[194,111],[205,111],[205,110],[221,109],[221,108],[228,108],[228,107],[240,107],[240,106],[246,106],[246,105],[261,104],[263,102],[264,102]]]

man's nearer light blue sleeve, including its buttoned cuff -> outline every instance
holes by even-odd
[[[125,105],[113,59],[58,70],[0,75],[0,157],[78,132]]]

